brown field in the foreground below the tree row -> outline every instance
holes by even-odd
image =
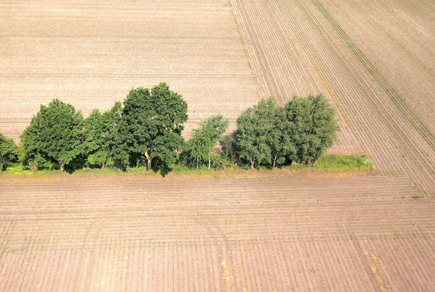
[[[435,206],[404,176],[2,181],[4,291],[435,289]]]

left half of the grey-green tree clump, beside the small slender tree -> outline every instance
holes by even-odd
[[[276,116],[276,101],[274,98],[262,99],[258,105],[248,108],[237,118],[235,144],[238,156],[254,163],[270,163],[272,160],[270,148],[270,132]]]

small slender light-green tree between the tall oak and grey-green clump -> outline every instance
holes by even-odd
[[[210,151],[225,133],[228,127],[228,119],[222,115],[215,115],[202,121],[197,129],[192,130],[192,137],[185,143],[184,152],[187,160],[192,161],[198,169],[200,162],[208,160],[210,169]]]

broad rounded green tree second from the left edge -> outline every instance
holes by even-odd
[[[53,99],[48,106],[41,105],[21,135],[25,160],[54,159],[64,172],[65,165],[81,153],[82,123],[81,112],[68,103]]]

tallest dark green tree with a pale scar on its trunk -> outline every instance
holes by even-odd
[[[130,153],[145,156],[147,168],[159,157],[165,165],[177,161],[181,149],[183,123],[187,120],[187,103],[178,93],[160,83],[149,91],[133,89],[124,100],[122,121]]]

